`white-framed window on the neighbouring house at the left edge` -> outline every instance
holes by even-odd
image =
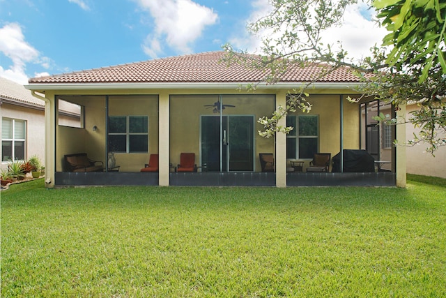
[[[1,119],[1,161],[24,160],[26,121]]]

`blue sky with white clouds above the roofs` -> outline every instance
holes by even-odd
[[[248,22],[270,10],[268,0],[0,0],[0,76],[31,77],[234,48],[258,52]],[[367,6],[351,6],[344,25],[325,40],[341,40],[366,56],[385,35]]]

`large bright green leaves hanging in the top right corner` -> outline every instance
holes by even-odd
[[[445,71],[441,49],[445,47],[446,3],[438,0],[376,0],[373,6],[380,10],[381,24],[391,31],[383,39],[383,45],[394,45],[386,59],[389,66],[400,66],[398,70],[402,70],[404,61],[419,65],[422,68],[420,83],[427,80],[429,71],[437,64]],[[418,54],[414,57],[413,53]]]

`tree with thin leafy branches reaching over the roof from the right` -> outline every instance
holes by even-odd
[[[326,29],[341,24],[346,7],[357,1],[270,0],[270,3],[272,12],[248,27],[254,34],[268,31],[269,37],[263,38],[262,56],[253,58],[226,45],[228,63],[236,61],[266,70],[264,80],[268,83],[277,82],[290,64],[302,67],[321,64],[323,71],[314,77],[314,81],[339,67],[352,68],[364,82],[358,89],[364,95],[376,96],[394,105],[410,100],[420,103],[420,112],[410,120],[422,128],[413,143],[426,141],[431,152],[446,145],[446,140],[437,137],[438,131],[446,131],[444,1],[376,0],[369,3],[376,8],[380,25],[390,33],[383,38],[383,45],[374,47],[371,56],[363,61],[348,59],[341,44],[334,49],[321,37]],[[279,131],[287,133],[291,128],[277,126],[280,118],[296,109],[311,110],[305,89],[313,82],[294,91],[295,95],[289,98],[286,107],[279,108],[272,117],[260,120],[265,126],[261,135],[270,137]],[[380,115],[380,120],[398,122],[385,115]]]

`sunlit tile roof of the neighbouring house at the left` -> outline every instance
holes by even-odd
[[[4,77],[0,77],[0,98],[26,105],[45,107],[45,102],[32,96],[31,91],[26,90],[23,85]]]

